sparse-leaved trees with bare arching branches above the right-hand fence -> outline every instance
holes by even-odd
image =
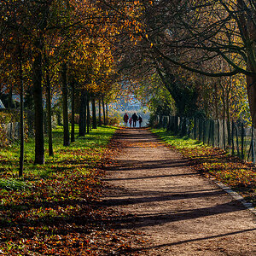
[[[249,115],[256,125],[253,1],[140,1],[143,31],[123,37],[119,70],[165,86],[179,115]],[[136,25],[135,25],[136,26]],[[142,91],[142,90],[140,90]],[[171,102],[172,103],[172,102]],[[198,113],[198,114],[199,114]]]

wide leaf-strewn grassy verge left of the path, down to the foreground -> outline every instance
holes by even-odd
[[[46,150],[43,166],[33,164],[30,140],[23,178],[17,177],[18,145],[0,150],[0,254],[105,255],[128,247],[108,226],[115,212],[96,203],[102,193],[100,166],[114,131],[100,127],[65,148],[59,127],[55,155]]]

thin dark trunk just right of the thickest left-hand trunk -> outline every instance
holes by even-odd
[[[49,69],[46,70],[46,108],[47,108],[47,123],[48,123],[48,148],[49,155],[53,155],[52,145],[52,125],[51,125],[51,90],[49,81]]]

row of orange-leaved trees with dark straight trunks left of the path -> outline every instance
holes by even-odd
[[[27,107],[35,112],[35,163],[44,164],[44,97],[49,154],[53,154],[51,106],[60,95],[64,145],[69,144],[68,87],[72,91],[72,120],[79,98],[79,135],[84,135],[86,115],[88,127],[89,102],[96,128],[95,102],[102,101],[105,107],[104,98],[111,96],[116,76],[112,55],[114,36],[120,30],[130,29],[124,14],[131,11],[132,5],[133,2],[119,3],[115,10],[113,1],[1,1],[0,84],[10,96],[13,91],[20,95],[20,176],[24,155],[24,96]],[[74,120],[72,141],[73,123]]]

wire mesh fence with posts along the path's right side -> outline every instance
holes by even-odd
[[[179,136],[188,136],[212,147],[223,148],[242,160],[256,158],[256,131],[241,120],[195,119],[179,116],[156,116],[154,125],[166,128]]]

